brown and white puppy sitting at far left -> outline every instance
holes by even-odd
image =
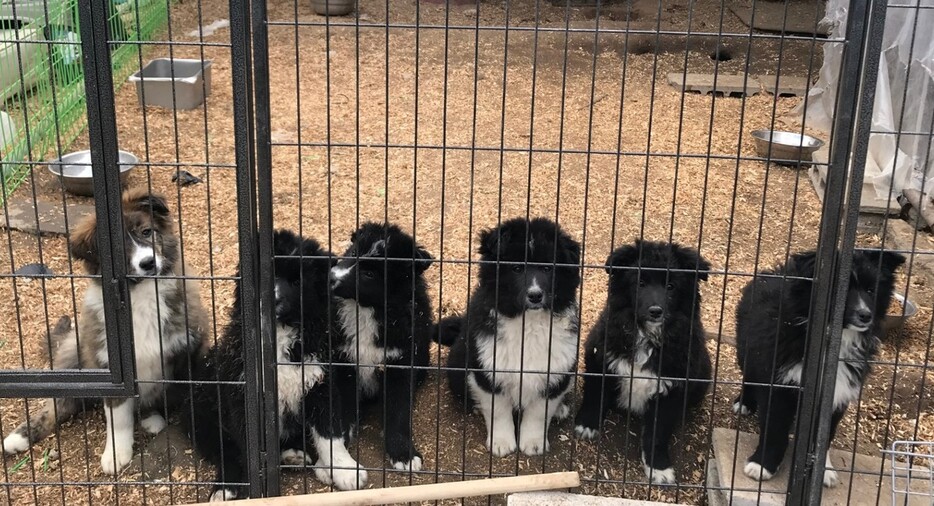
[[[179,241],[165,198],[150,195],[145,189],[128,190],[123,195],[123,226],[139,397],[104,401],[107,442],[101,467],[107,474],[119,473],[133,457],[137,407],[144,415],[140,425],[146,432],[155,434],[165,428],[165,418],[157,411],[166,395],[166,384],[162,381],[188,376],[190,360],[200,349],[208,329],[197,282],[171,277],[180,276],[182,269]],[[94,216],[75,227],[71,251],[84,262],[88,273],[100,274]],[[185,274],[192,273],[186,269]],[[67,318],[53,331],[53,369],[108,368],[101,282],[100,278],[91,280],[85,292],[78,332],[71,328]],[[179,400],[171,397],[170,392],[169,406]],[[46,399],[28,422],[3,440],[4,453],[27,450],[83,405],[84,400],[79,398]]]

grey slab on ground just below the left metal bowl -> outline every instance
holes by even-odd
[[[49,203],[38,201],[33,205],[32,195],[13,195],[7,200],[7,216],[0,219],[0,226],[21,230],[33,234],[65,235],[65,215],[68,224],[75,226],[81,218],[94,213],[94,206],[87,204],[68,204],[64,209],[61,202]],[[39,211],[39,223],[36,223],[36,209]],[[2,214],[2,211],[0,211]]]

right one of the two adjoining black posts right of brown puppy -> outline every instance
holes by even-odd
[[[269,36],[266,2],[253,2],[253,78],[256,114],[256,185],[259,213],[260,333],[263,336],[263,409],[266,445],[266,493],[279,495],[279,421],[273,300],[272,144],[269,112]],[[269,338],[267,338],[267,336]]]

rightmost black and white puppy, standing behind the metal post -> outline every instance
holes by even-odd
[[[853,253],[831,440],[847,407],[859,399],[869,361],[878,352],[880,324],[891,302],[895,270],[904,261],[902,255],[888,251]],[[759,445],[744,469],[755,480],[772,478],[788,448],[788,433],[798,408],[811,307],[811,279],[792,278],[813,278],[814,264],[813,251],[792,255],[786,265],[763,272],[770,277],[746,285],[736,308],[737,360],[744,384],[733,411],[759,412]],[[828,458],[824,485],[832,487],[838,481]]]

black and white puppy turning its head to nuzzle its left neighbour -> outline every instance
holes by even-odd
[[[365,223],[331,268],[335,336],[342,359],[355,364],[343,375],[345,423],[356,427],[357,401],[383,393],[385,445],[392,465],[419,471],[422,455],[412,441],[415,393],[425,379],[433,321],[424,272],[432,257],[398,226]]]

